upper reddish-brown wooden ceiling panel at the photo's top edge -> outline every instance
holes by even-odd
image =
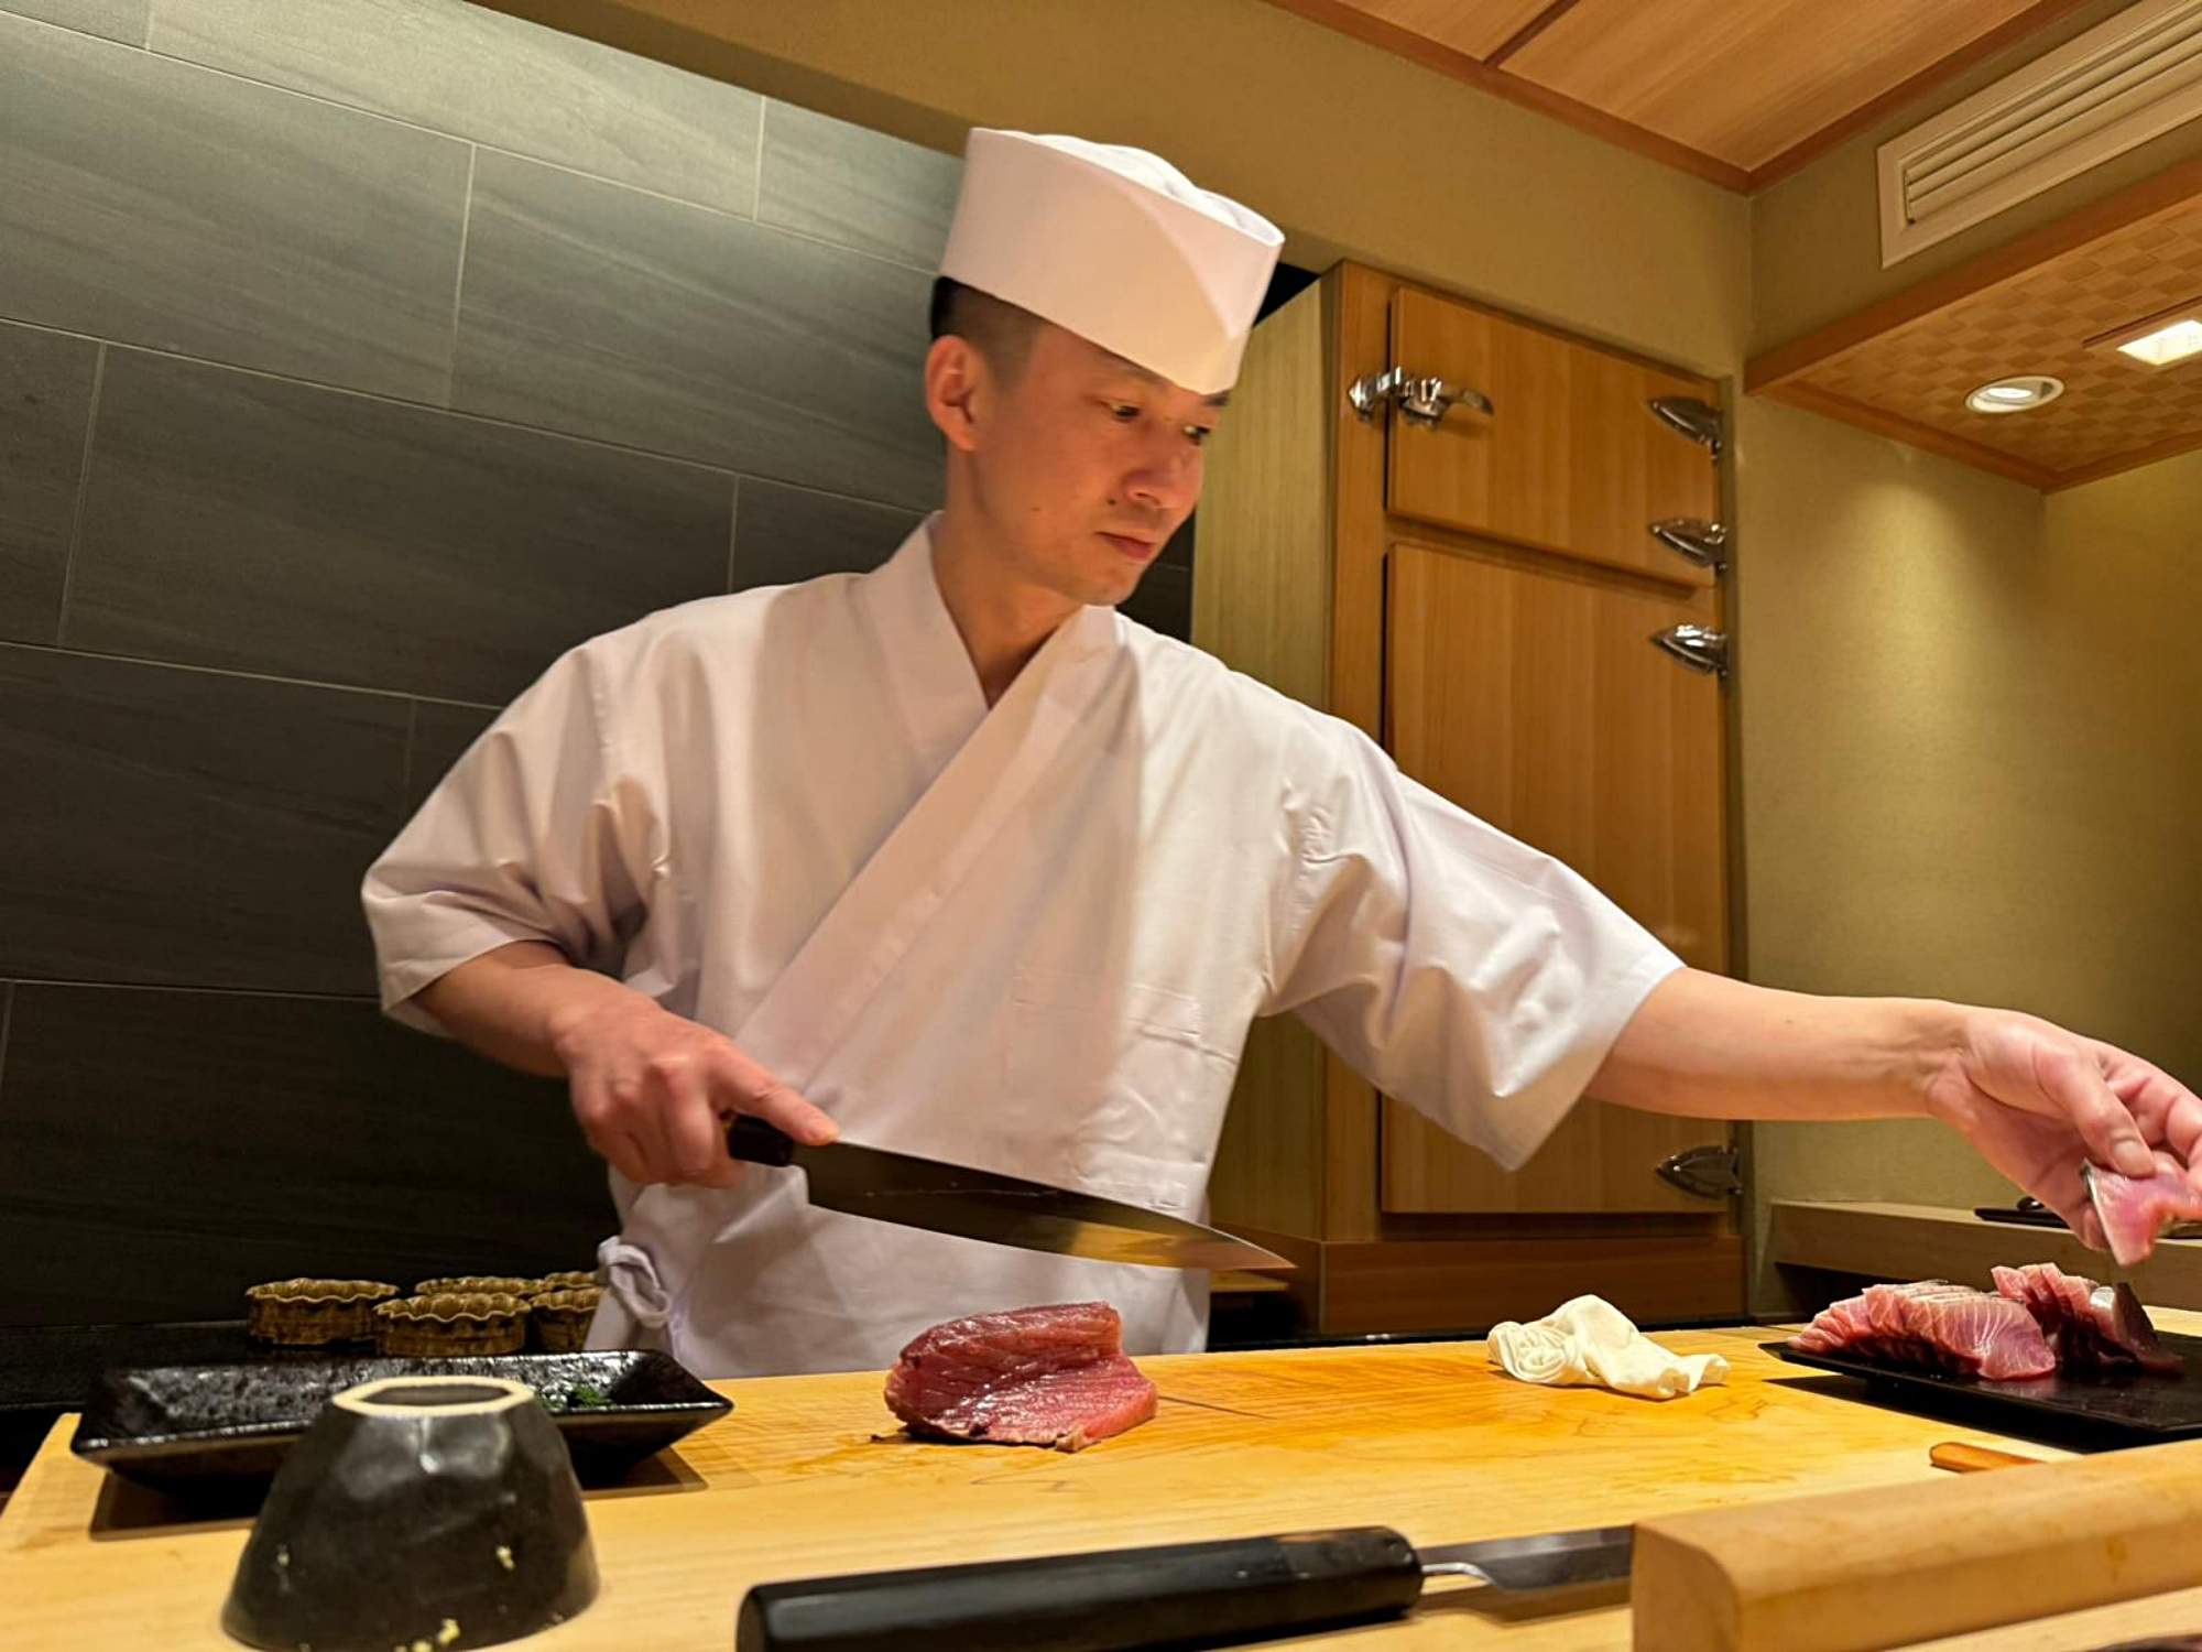
[[[2081,0],[1273,0],[1733,189]]]

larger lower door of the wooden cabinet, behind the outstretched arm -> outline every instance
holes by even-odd
[[[1702,601],[1394,544],[1385,725],[1398,767],[1557,855],[1685,963],[1726,963],[1720,687],[1647,648]],[[1581,1104],[1506,1174],[1383,1106],[1387,1211],[1702,1211],[1656,1174],[1702,1119]]]

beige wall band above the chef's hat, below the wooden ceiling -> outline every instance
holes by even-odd
[[[918,143],[1154,148],[1341,256],[1707,374],[1742,361],[1748,203],[1264,0],[495,0]]]

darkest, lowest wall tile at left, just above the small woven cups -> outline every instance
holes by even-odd
[[[18,1324],[229,1319],[297,1273],[595,1264],[603,1181],[562,1086],[372,1004],[18,985],[0,1245]]]

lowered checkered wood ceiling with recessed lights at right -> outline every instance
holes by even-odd
[[[2202,163],[1770,350],[1744,383],[1982,469],[2057,489],[2202,447],[2202,357],[2149,368],[2105,335],[2202,317]],[[1971,390],[2015,374],[2063,394],[1977,414]]]

